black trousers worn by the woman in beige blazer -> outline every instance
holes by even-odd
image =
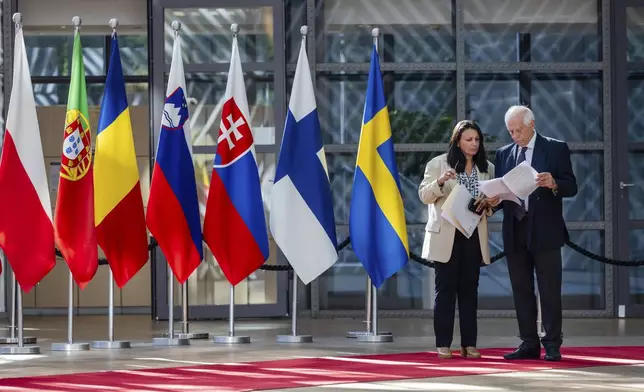
[[[449,347],[454,334],[454,315],[458,297],[461,346],[476,347],[481,244],[478,229],[468,239],[460,231],[454,235],[452,256],[447,263],[434,263],[436,300],[434,333],[436,347]]]

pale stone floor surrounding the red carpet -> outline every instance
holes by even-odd
[[[0,323],[2,324],[2,323]],[[107,318],[81,316],[75,319],[74,341],[91,342],[107,336]],[[236,324],[236,334],[251,337],[250,344],[226,346],[209,340],[193,340],[188,347],[154,347],[152,338],[167,331],[166,322],[147,316],[117,316],[115,338],[132,342],[132,349],[91,350],[78,353],[52,352],[55,342],[67,341],[65,317],[28,317],[25,336],[38,338],[41,355],[0,356],[0,378],[63,374],[74,372],[174,367],[218,362],[288,359],[301,356],[356,355],[369,353],[418,352],[434,349],[431,319],[381,319],[381,331],[394,334],[393,343],[360,343],[345,338],[347,331],[363,328],[360,320],[301,320],[299,331],[311,334],[314,343],[289,345],[275,342],[276,335],[289,334],[290,320],[244,320]],[[180,325],[177,323],[177,328]],[[226,335],[227,322],[194,322],[192,332]],[[459,345],[458,325],[453,347]],[[2,334],[2,332],[0,332]],[[644,319],[566,319],[564,344],[569,346],[644,345]],[[514,347],[516,321],[510,318],[481,319],[479,344],[483,347]],[[433,378],[395,382],[360,383],[317,387],[316,390],[346,391],[642,391],[644,366],[616,366],[583,370],[552,370],[532,373]],[[309,391],[312,388],[290,389]]]

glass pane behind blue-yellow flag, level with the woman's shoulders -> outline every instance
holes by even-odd
[[[427,206],[418,198],[418,185],[423,179],[427,162],[440,154],[440,152],[396,153],[396,165],[408,223],[427,222]],[[335,222],[338,225],[349,224],[355,164],[356,154],[327,154]]]

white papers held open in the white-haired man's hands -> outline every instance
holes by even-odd
[[[537,171],[523,161],[501,178],[481,181],[479,190],[487,197],[500,196],[501,200],[510,200],[520,204],[519,198],[525,200],[537,187]]]

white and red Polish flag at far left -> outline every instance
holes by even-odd
[[[29,292],[56,265],[51,202],[22,28],[0,157],[0,248]],[[1,267],[0,267],[1,268]]]

